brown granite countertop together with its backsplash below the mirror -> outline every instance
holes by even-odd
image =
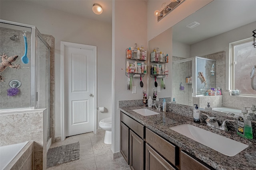
[[[130,101],[130,100],[129,100]],[[132,109],[139,108],[148,108],[144,106],[129,106],[129,101],[120,101],[119,103],[126,103],[128,107],[121,107],[120,111],[123,111],[128,116],[132,117],[142,125],[145,125],[151,131],[154,131],[156,134],[162,136],[164,139],[167,139],[174,145],[180,147],[182,150],[186,150],[189,154],[195,156],[196,158],[202,160],[206,164],[212,166],[216,170],[234,170],[234,169],[246,169],[246,170],[255,170],[256,164],[252,161],[255,157],[256,150],[256,123],[252,123],[253,128],[253,136],[254,139],[245,139],[236,134],[236,122],[227,122],[227,126],[229,131],[221,131],[219,129],[214,129],[208,127],[205,123],[205,119],[207,118],[205,115],[201,114],[201,123],[193,122],[193,109],[192,107],[181,106],[178,104],[166,104],[166,111],[160,111],[158,115],[151,116],[142,116]],[[156,101],[154,101],[156,102]],[[156,102],[161,104],[161,102]],[[156,109],[148,108],[156,111]],[[224,115],[218,115],[213,112],[201,111],[201,113],[206,113],[212,117],[216,117],[218,123],[220,124],[225,119],[233,119],[236,120],[235,117],[227,117]],[[206,129],[218,135],[222,135],[233,139],[235,141],[244,143],[249,145],[248,148],[244,149],[242,152],[238,153],[235,156],[226,156],[221,154],[213,149],[209,149],[208,147],[193,141],[192,139],[185,137],[175,131],[169,129],[169,127],[180,125],[180,124],[191,124],[198,126],[202,129]]]

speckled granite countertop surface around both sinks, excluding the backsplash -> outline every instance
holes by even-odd
[[[244,139],[236,134],[234,131],[221,131],[219,129],[214,129],[206,125],[206,123],[194,123],[190,117],[183,115],[171,113],[171,112],[162,112],[157,111],[160,114],[142,116],[132,109],[147,108],[153,111],[150,107],[120,107],[120,110],[126,115],[132,117],[136,121],[140,122],[142,125],[145,125],[148,129],[154,131],[164,139],[170,141],[174,145],[180,147],[181,150],[186,150],[196,158],[202,160],[206,164],[212,166],[216,170],[255,170],[256,169],[256,140],[255,139]],[[181,124],[191,124],[208,131],[217,133],[228,137],[230,139],[239,141],[246,145],[249,145],[246,149],[242,150],[240,153],[235,156],[226,156],[217,152],[216,150],[210,149],[201,143],[198,143],[180,133],[169,129],[169,127],[181,125]],[[221,143],[220,143],[221,145]]]

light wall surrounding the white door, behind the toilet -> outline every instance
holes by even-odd
[[[40,33],[55,37],[55,136],[60,136],[60,41],[97,46],[98,106],[100,119],[111,116],[112,25],[50,10],[24,1],[0,1],[0,18],[35,25]],[[144,43],[146,44],[146,43]],[[123,52],[124,53],[124,52]],[[124,64],[123,64],[124,65]]]

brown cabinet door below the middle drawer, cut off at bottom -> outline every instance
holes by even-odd
[[[176,170],[176,168],[146,144],[146,170]]]

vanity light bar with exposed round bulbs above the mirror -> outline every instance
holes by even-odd
[[[185,0],[171,0],[170,4],[166,4],[165,2],[161,5],[162,11],[159,12],[158,10],[155,10],[154,15],[157,16],[157,21],[160,21],[164,16],[166,16],[169,12],[174,10],[178,5],[181,4],[181,2],[184,2]]]

